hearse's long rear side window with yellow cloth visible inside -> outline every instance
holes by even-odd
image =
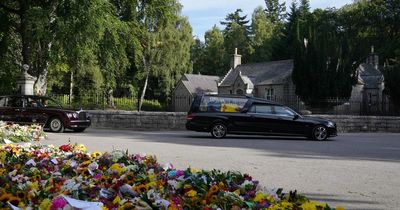
[[[240,112],[247,98],[203,96],[200,102],[201,112]]]

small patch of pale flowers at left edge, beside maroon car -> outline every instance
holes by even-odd
[[[0,143],[39,141],[45,136],[40,125],[22,126],[0,121]]]

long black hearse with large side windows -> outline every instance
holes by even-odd
[[[226,134],[305,136],[326,140],[336,136],[336,123],[302,116],[282,104],[249,96],[199,95],[187,114],[186,129]]]

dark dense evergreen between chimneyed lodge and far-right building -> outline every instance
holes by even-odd
[[[327,98],[349,98],[356,65],[348,48],[348,39],[332,10],[301,14],[297,20],[294,45],[293,81],[296,94],[309,106]]]

